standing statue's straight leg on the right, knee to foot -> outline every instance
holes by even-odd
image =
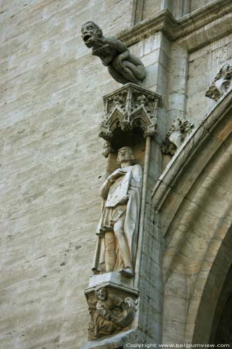
[[[118,221],[114,223],[114,234],[116,239],[118,240],[118,248],[119,248],[121,257],[123,258],[123,263],[125,265],[125,268],[132,269],[130,250],[124,235],[124,219],[123,218],[119,218]]]

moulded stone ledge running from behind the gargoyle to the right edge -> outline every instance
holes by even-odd
[[[156,13],[153,17],[136,24],[134,27],[121,31],[117,38],[123,40],[126,45],[130,46],[152,34],[155,34],[157,31],[162,31],[162,33],[171,41],[183,38],[183,44],[187,46],[187,50],[193,52],[199,47],[207,45],[208,41],[212,42],[232,32],[232,26],[229,28],[226,22],[227,17],[231,12],[231,0],[213,1],[188,15],[185,15],[180,18],[180,20],[176,20],[169,10],[165,9]],[[217,27],[218,19],[220,19],[219,27]],[[217,30],[212,30],[210,40],[200,40],[199,29],[203,30],[203,28],[209,24],[211,30],[214,26],[217,27]],[[189,43],[190,40],[187,40],[187,36],[190,35],[192,45]]]

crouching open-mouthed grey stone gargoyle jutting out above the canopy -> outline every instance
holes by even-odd
[[[141,60],[130,54],[122,43],[111,36],[103,36],[102,29],[94,22],[82,24],[82,38],[92,54],[100,57],[102,64],[108,67],[109,74],[117,82],[140,84],[146,76],[146,69]]]

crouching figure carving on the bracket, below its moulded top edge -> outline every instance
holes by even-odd
[[[96,287],[94,292],[86,297],[91,315],[88,327],[89,339],[98,339],[121,331],[134,320],[138,299],[105,286]]]

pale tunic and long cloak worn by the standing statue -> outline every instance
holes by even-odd
[[[93,260],[93,272],[98,274],[105,272],[105,239],[104,235],[107,231],[114,231],[114,223],[118,219],[124,221],[124,235],[130,249],[132,266],[134,267],[136,251],[137,251],[137,235],[139,228],[139,209],[141,200],[141,186],[143,171],[140,165],[127,166],[123,168],[126,174],[116,179],[114,184],[105,182],[105,190],[108,191],[107,200],[102,205],[102,215],[98,224],[96,234],[98,235],[98,243],[95,250]],[[107,188],[108,186],[108,188]],[[129,199],[125,205],[117,205],[121,198],[129,195]],[[119,272],[123,267],[123,260],[118,251],[118,243],[116,241],[116,265],[115,272]]]

